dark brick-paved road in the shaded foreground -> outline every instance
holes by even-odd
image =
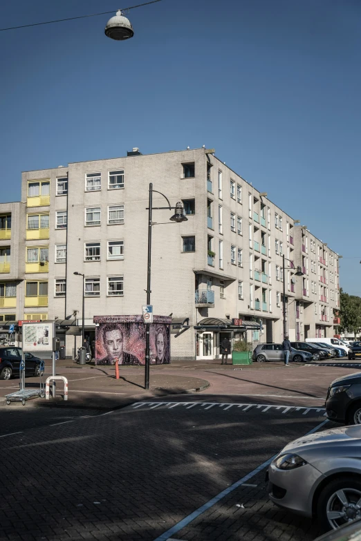
[[[0,539],[152,541],[324,419],[206,407],[129,406],[1,438]],[[311,541],[311,522],[268,503],[263,475],[175,537]]]

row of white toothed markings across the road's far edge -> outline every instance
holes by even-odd
[[[299,415],[313,415],[313,416],[324,416],[326,417],[325,408],[317,407],[308,407],[308,406],[290,406],[288,404],[237,404],[237,402],[227,403],[227,402],[136,402],[132,404],[127,409],[139,409],[143,408],[145,410],[173,410],[176,408],[183,408],[184,410],[190,410],[192,408],[198,408],[198,410],[207,412],[211,409],[221,409],[223,411],[229,411],[232,408],[232,411],[239,411],[241,413],[246,413],[251,410],[258,411],[259,413],[266,413],[276,411],[281,413],[281,415],[287,415],[288,413],[299,413]]]

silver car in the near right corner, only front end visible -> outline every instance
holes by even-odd
[[[290,442],[268,468],[272,502],[315,517],[324,531],[361,518],[361,426]]]

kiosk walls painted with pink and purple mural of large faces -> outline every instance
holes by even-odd
[[[94,316],[95,364],[145,364],[145,328],[142,316]],[[151,364],[170,362],[172,318],[153,316],[150,325]]]

